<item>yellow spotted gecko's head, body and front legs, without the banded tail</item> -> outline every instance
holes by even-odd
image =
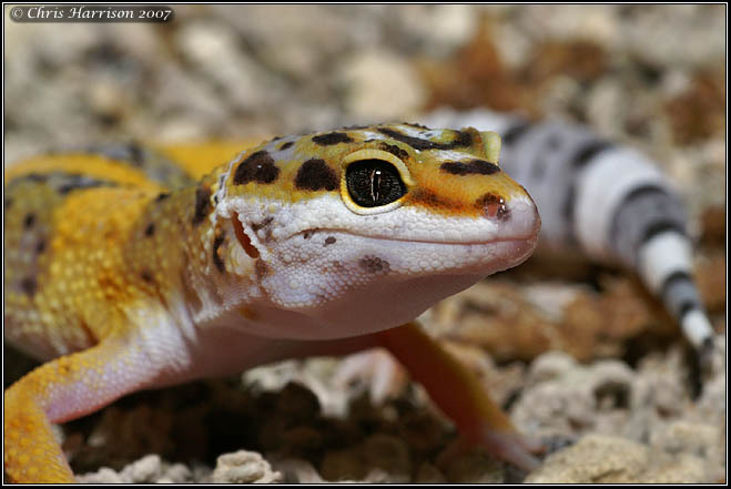
[[[6,473],[73,481],[51,424],[125,394],[377,346],[465,444],[535,467],[539,445],[413,322],[534,251],[538,211],[499,147],[388,124],[11,166],[4,336],[45,363],[4,393]]]

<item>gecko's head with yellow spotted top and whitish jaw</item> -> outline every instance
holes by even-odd
[[[242,154],[217,206],[232,253],[252,263],[238,273],[255,278],[268,317],[308,325],[267,332],[324,339],[397,326],[525,261],[540,218],[498,166],[499,145],[471,128],[389,124]]]

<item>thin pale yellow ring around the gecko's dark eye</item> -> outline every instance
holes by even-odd
[[[390,173],[392,182],[394,180],[398,181],[400,177],[400,182],[403,182],[403,185],[400,182],[398,185],[400,185],[400,187],[403,189],[403,194],[397,195],[397,198],[384,205],[375,204],[373,206],[365,206],[365,204],[359,205],[358,203],[356,203],[355,200],[353,198],[353,195],[351,194],[352,189],[348,186],[348,166],[353,163],[359,163],[359,162],[385,162],[393,165],[393,169],[389,170],[392,172]],[[398,176],[396,177],[393,177],[393,175],[395,175],[395,173],[393,173],[394,170],[398,173]],[[354,170],[354,172],[356,173],[359,171],[362,170]],[[388,171],[384,173],[388,174]],[[372,181],[372,185],[373,185],[373,181]],[[343,159],[343,172],[341,177],[341,197],[345,206],[356,214],[362,214],[362,215],[380,214],[400,207],[404,196],[408,193],[408,189],[413,185],[414,185],[414,180],[412,179],[412,174],[409,173],[406,164],[402,160],[396,157],[394,154],[388,153],[386,151],[373,150],[373,149],[358,150],[348,154]],[[396,195],[392,195],[392,196],[396,196]]]

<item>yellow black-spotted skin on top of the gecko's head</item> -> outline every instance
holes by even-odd
[[[345,170],[343,162],[348,154],[373,150],[395,155],[407,167],[413,182],[409,186],[414,189],[406,195],[404,205],[423,206],[445,215],[474,217],[483,212],[481,206],[476,203],[485,195],[486,186],[495,195],[501,195],[506,202],[515,194],[525,194],[520,185],[499,172],[493,174],[487,185],[485,181],[464,177],[478,174],[480,171],[489,172],[487,165],[465,167],[469,163],[463,163],[461,167],[455,167],[451,172],[441,169],[441,163],[451,162],[457,165],[459,163],[453,160],[459,157],[469,161],[470,155],[474,161],[497,164],[497,161],[487,160],[495,157],[491,147],[487,146],[488,140],[495,144],[491,136],[484,137],[470,128],[463,131],[429,130],[413,124],[339,130],[312,137],[284,137],[243,154],[235,163],[237,166],[234,171],[241,171],[242,166],[245,167],[247,162],[251,162],[251,165],[263,169],[261,179],[242,176],[237,181],[234,175],[233,179],[227,180],[227,190],[233,195],[266,196],[286,202],[313,198],[317,193],[334,190],[328,186],[329,175],[334,182],[341,182]],[[428,143],[416,141],[428,141]],[[455,150],[459,150],[461,154],[457,155]],[[276,177],[272,181],[274,185],[262,185],[266,183],[267,177],[273,177],[271,173],[266,173],[266,167],[274,165],[264,156],[257,157],[261,153],[276,161]],[[315,175],[317,180],[302,182],[302,179],[298,179],[299,172],[303,165],[312,160],[312,155],[323,161],[329,175],[324,170],[318,170]]]

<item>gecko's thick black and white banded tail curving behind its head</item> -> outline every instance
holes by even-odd
[[[538,205],[539,246],[572,246],[593,261],[636,269],[708,361],[713,329],[691,274],[687,217],[651,161],[565,123],[531,124],[484,110],[439,111],[428,123],[500,133],[500,166]]]

